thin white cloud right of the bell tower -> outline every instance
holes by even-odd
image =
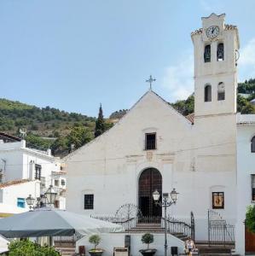
[[[241,81],[255,77],[255,38],[241,49],[238,64]]]

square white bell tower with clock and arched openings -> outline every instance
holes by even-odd
[[[194,44],[194,116],[236,113],[236,26],[225,24],[225,15],[202,18],[203,27],[192,32]]]

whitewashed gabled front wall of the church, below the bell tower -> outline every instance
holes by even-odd
[[[163,191],[180,193],[171,215],[190,220],[196,237],[207,240],[207,209],[212,191],[225,193],[217,210],[235,223],[235,115],[187,119],[154,92],[142,97],[126,116],[101,137],[67,157],[67,209],[84,214],[115,214],[125,203],[138,205],[138,179],[154,167],[163,177]],[[157,150],[148,159],[144,133],[157,132]],[[228,132],[226,132],[228,131]],[[84,194],[94,194],[94,210],[84,210]]]

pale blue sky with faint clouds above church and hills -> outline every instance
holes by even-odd
[[[240,80],[255,78],[255,1],[0,1],[0,97],[96,116],[148,90],[165,100],[194,89],[190,32],[226,13],[239,27]]]

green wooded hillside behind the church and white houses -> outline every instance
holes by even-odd
[[[255,79],[238,84],[237,110],[255,113],[250,103],[255,98]],[[194,95],[187,100],[170,103],[183,115],[194,113]],[[104,129],[113,126],[127,109],[116,111],[105,120]],[[0,131],[20,136],[20,128],[26,128],[26,142],[32,148],[51,148],[55,155],[63,156],[71,148],[79,148],[95,137],[96,118],[81,113],[67,113],[57,108],[38,108],[21,102],[0,99]]]

